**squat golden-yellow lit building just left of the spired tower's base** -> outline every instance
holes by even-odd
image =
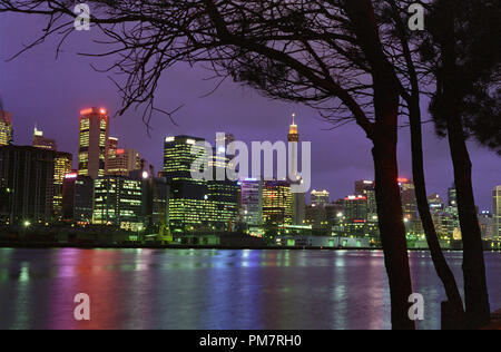
[[[293,194],[284,180],[265,180],[263,185],[263,223],[267,226],[293,224]]]

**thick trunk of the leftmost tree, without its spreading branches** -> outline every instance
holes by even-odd
[[[371,65],[374,86],[373,158],[377,215],[384,261],[390,281],[392,326],[414,330],[409,317],[412,295],[407,243],[403,223],[402,201],[397,184],[396,159],[400,85],[393,66],[384,55],[371,0],[345,0],[344,9],[351,29]]]

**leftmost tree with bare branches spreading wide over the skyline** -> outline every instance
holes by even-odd
[[[109,51],[95,56],[117,56],[110,69],[127,77],[124,85],[117,82],[124,96],[120,114],[145,104],[149,121],[159,110],[155,91],[161,74],[184,61],[206,63],[217,77],[230,77],[272,98],[312,106],[334,125],[356,121],[373,143],[393,327],[414,329],[407,315],[412,284],[397,185],[402,85],[382,45],[384,25],[376,22],[373,1],[87,3],[94,28],[111,39]],[[32,45],[52,33],[63,41],[73,31],[72,1],[0,0],[0,11],[47,16],[46,32]]]

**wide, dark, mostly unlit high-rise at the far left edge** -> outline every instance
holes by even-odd
[[[52,216],[56,151],[0,147],[0,216],[10,224],[46,223]]]

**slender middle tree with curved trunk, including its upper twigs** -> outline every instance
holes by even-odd
[[[419,43],[421,36],[415,40],[415,32],[407,26],[407,9],[414,0],[399,1],[385,0],[381,2],[380,16],[382,22],[390,22],[387,47],[392,48],[392,62],[395,66],[402,82],[401,96],[404,110],[409,116],[411,128],[412,168],[415,185],[418,209],[428,245],[436,273],[441,278],[448,302],[442,304],[442,329],[464,327],[464,307],[458,283],[440,246],[439,236],[428,202],[428,192],[424,176],[423,138],[422,138],[422,80],[428,70],[419,62]],[[426,80],[424,80],[426,82]]]

